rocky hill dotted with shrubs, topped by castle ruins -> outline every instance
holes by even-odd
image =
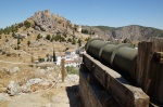
[[[88,37],[82,34],[82,26],[46,10],[36,12],[20,24],[0,29],[0,50],[15,52],[37,48],[40,53],[48,54],[54,48],[57,52],[65,52],[84,45]]]

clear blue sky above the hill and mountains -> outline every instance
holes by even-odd
[[[1,0],[0,28],[49,9],[74,24],[163,29],[163,0]]]

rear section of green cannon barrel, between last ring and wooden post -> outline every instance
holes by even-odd
[[[131,79],[136,76],[136,63],[137,63],[138,50],[123,46],[115,52],[115,56],[112,65],[126,72]]]

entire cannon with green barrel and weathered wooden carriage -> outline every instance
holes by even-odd
[[[138,50],[95,39],[88,41],[86,51],[79,76],[86,107],[163,104],[163,39],[140,42]]]

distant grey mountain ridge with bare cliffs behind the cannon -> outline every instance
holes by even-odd
[[[108,27],[108,26],[83,26],[83,30],[95,32],[100,38],[117,38],[117,39],[130,39],[130,40],[145,40],[150,37],[163,37],[163,30],[143,27],[139,25],[130,25],[124,27]]]

